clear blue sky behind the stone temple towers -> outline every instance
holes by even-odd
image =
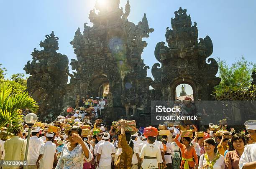
[[[120,0],[125,8],[126,0]],[[0,63],[8,70],[7,78],[14,73],[25,73],[23,67],[33,48],[41,50],[39,42],[54,30],[59,37],[57,52],[76,58],[69,42],[77,27],[83,30],[90,23],[88,14],[95,0],[1,0],[0,1]],[[181,6],[187,9],[192,22],[197,22],[199,38],[209,35],[213,42],[211,57],[226,60],[229,64],[242,55],[256,62],[256,1],[255,0],[130,0],[128,20],[141,21],[146,13],[154,33],[145,38],[148,46],[142,58],[146,65],[156,63],[156,43],[165,41],[166,27],[171,27],[174,11]],[[151,69],[148,71],[151,77]]]

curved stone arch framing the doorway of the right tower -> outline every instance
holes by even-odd
[[[192,81],[189,78],[179,78],[177,80],[174,80],[171,83],[171,100],[176,100],[176,93],[175,93],[175,91],[176,91],[177,86],[179,86],[180,84],[188,84],[188,85],[190,85],[192,87],[192,90],[193,90],[194,100],[198,99],[197,86],[194,83],[194,81]]]

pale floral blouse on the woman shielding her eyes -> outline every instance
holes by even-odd
[[[59,162],[55,169],[82,169],[84,159],[89,162],[92,160],[92,153],[87,144],[86,148],[89,151],[89,158],[84,156],[82,146],[78,144],[72,151],[69,151],[67,144],[63,146]]]

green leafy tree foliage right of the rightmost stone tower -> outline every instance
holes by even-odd
[[[220,84],[215,87],[217,100],[256,100],[256,86],[251,86],[251,73],[256,63],[241,57],[231,66],[218,58]]]

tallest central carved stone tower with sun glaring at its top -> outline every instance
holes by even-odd
[[[77,95],[100,97],[101,86],[109,84],[108,117],[136,116],[137,110],[149,113],[152,79],[146,77],[149,67],[143,63],[141,53],[147,46],[142,38],[148,38],[154,29],[149,28],[146,14],[137,25],[128,21],[129,1],[125,13],[119,7],[120,0],[107,0],[106,4],[96,1],[98,13],[93,9],[89,14],[93,26],[84,23],[83,34],[78,28],[70,42],[77,55],[70,65],[76,72],[70,75],[64,103],[75,103]]]

